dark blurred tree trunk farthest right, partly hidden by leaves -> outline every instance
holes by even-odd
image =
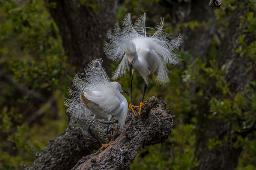
[[[221,46],[217,52],[216,61],[219,63],[219,69],[226,67],[224,80],[229,85],[231,94],[236,92],[243,92],[246,95],[246,85],[252,80],[253,76],[250,74],[248,68],[252,67],[255,63],[249,62],[248,58],[243,54],[236,53],[236,49],[239,47],[238,39],[240,34],[245,33],[245,27],[239,26],[241,22],[240,16],[244,16],[247,11],[246,2],[239,0],[238,5],[243,7],[237,7],[232,13],[233,16],[230,20],[230,24],[227,28],[225,37],[221,41]],[[250,36],[245,36],[245,42],[250,44],[253,39]],[[224,136],[229,137],[229,140],[235,142],[236,139],[232,138],[232,123],[219,119],[218,117],[210,119],[208,116],[210,107],[208,102],[211,96],[218,96],[218,98],[224,97],[224,94],[220,94],[215,87],[215,81],[212,81],[204,90],[204,95],[198,105],[198,133],[196,140],[196,157],[199,161],[197,170],[217,170],[217,169],[235,169],[238,164],[238,159],[241,154],[242,148],[234,148],[232,143],[225,141]],[[211,96],[209,96],[211,94]],[[208,142],[210,138],[214,138],[221,141],[221,146],[209,150]]]

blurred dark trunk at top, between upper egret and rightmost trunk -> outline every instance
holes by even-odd
[[[183,44],[181,50],[188,52],[195,58],[206,61],[211,41],[216,31],[216,16],[209,7],[208,1],[191,0],[191,12],[184,22],[198,22],[200,26],[195,29],[187,27],[182,33]],[[205,25],[205,26],[204,26]]]

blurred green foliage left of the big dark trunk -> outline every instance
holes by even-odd
[[[72,69],[43,0],[0,4],[0,72],[8,80],[0,83],[0,169],[19,169],[33,162],[32,146],[39,152],[67,127],[63,94]],[[38,105],[35,96],[54,103]]]

